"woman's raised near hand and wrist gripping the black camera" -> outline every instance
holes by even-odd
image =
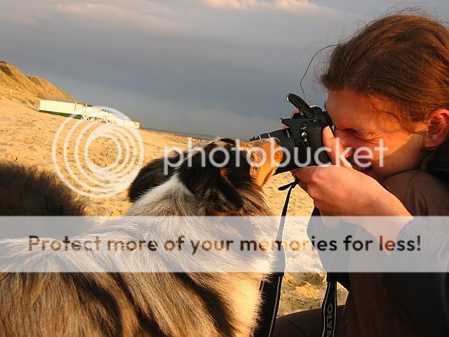
[[[301,180],[300,186],[314,199],[320,210],[323,223],[328,227],[338,227],[340,220],[328,218],[337,216],[349,223],[363,227],[373,237],[396,240],[398,233],[413,217],[401,201],[388,192],[374,178],[351,168],[344,158],[337,158],[337,140],[327,127],[323,132],[323,143],[330,149],[329,157],[333,165],[308,166],[297,169],[295,174]],[[351,151],[347,152],[347,156]],[[335,165],[337,163],[338,165]],[[387,220],[356,217],[390,216]],[[387,253],[389,254],[389,253]]]

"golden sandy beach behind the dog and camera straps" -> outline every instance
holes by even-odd
[[[92,122],[77,119],[67,121],[66,117],[39,112],[32,105],[25,106],[18,101],[2,98],[0,100],[0,159],[55,171],[52,145],[62,123],[67,123],[61,133],[64,136],[68,132],[67,129],[75,123],[79,123],[79,128],[83,128]],[[145,130],[135,132],[142,138],[144,162],[162,157],[164,147],[187,147],[188,137],[186,136]],[[72,136],[76,137],[76,133]],[[201,141],[206,140],[194,139],[193,143]],[[62,146],[59,143],[58,146]],[[58,166],[65,171],[64,157],[59,147],[57,154]],[[103,167],[111,165],[117,157],[116,145],[110,139],[98,138],[88,147],[88,157],[95,165]],[[70,153],[67,158],[72,160]],[[75,167],[74,163],[69,164]],[[76,181],[67,179],[76,186]],[[264,186],[267,202],[276,215],[281,214],[286,197],[286,192],[278,191],[277,187],[290,181],[290,173],[283,173],[272,177]],[[83,188],[79,185],[78,187],[81,190]],[[88,204],[87,211],[91,216],[122,216],[130,206],[126,190],[109,197],[90,198]],[[309,216],[312,209],[313,203],[307,194],[300,188],[293,190],[288,215]],[[283,282],[279,315],[319,308],[325,289],[323,275],[287,274]],[[340,289],[339,299],[344,300],[345,296],[346,292]]]

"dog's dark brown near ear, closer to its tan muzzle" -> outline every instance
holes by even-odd
[[[222,152],[214,159],[220,163]],[[179,178],[200,202],[201,214],[205,216],[232,215],[243,207],[243,199],[227,178],[227,169],[216,167],[209,159],[201,158],[201,152],[193,154],[191,164],[185,161],[178,170]],[[206,156],[208,157],[208,156]]]

